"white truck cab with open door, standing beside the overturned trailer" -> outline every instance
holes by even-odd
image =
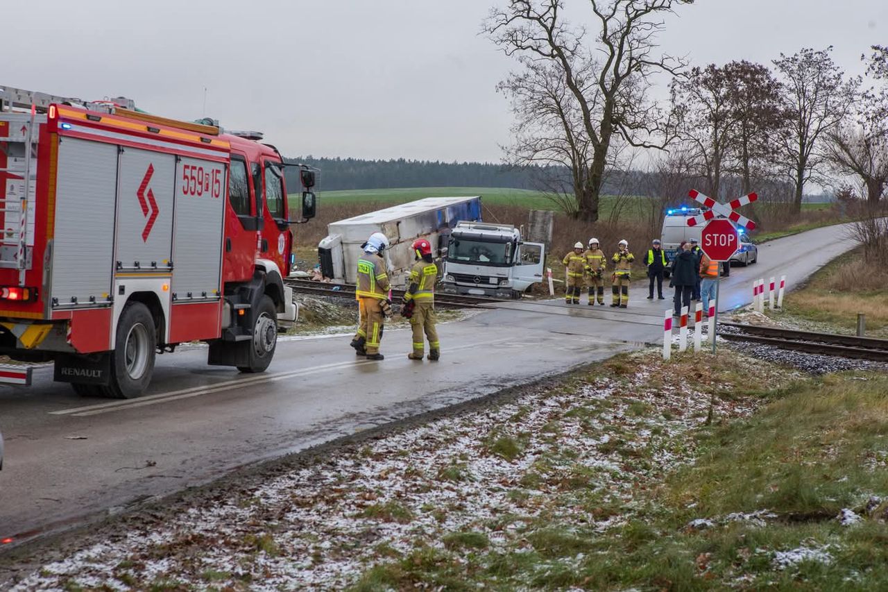
[[[525,243],[519,228],[466,222],[450,233],[443,292],[520,298],[543,281],[545,245]]]

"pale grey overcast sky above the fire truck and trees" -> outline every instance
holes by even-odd
[[[585,0],[565,0],[576,19]],[[266,132],[285,155],[501,159],[513,62],[480,36],[505,0],[4,2],[0,84],[87,100],[123,94],[163,116]],[[665,51],[694,63],[888,43],[884,0],[697,0]]]

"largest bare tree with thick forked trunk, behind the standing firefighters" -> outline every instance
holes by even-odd
[[[545,85],[556,91],[554,95],[560,96],[560,91],[570,94],[572,109],[564,116],[552,102],[553,93],[542,92],[536,97],[543,100],[536,104],[549,115],[551,132],[563,135],[564,144],[553,150],[537,150],[522,147],[519,138],[512,154],[532,155],[536,161],[528,162],[548,160],[552,164],[563,162],[566,155],[575,158],[569,164],[574,176],[575,218],[599,219],[599,198],[615,139],[637,148],[663,148],[671,140],[670,121],[647,100],[649,77],[658,70],[674,73],[684,66],[682,60],[655,55],[655,41],[663,26],[662,15],[672,12],[675,5],[692,2],[589,0],[600,27],[592,44],[587,44],[583,28],[573,28],[563,20],[563,0],[509,0],[504,9],[493,9],[485,21],[483,31],[507,55],[519,57],[522,69],[541,68],[529,76],[560,76],[558,84],[548,80]],[[527,108],[531,103],[514,101],[513,84],[520,82],[521,76],[513,74],[501,86],[512,97],[513,108],[519,105],[515,110],[519,126],[539,116],[534,108]],[[528,123],[526,129],[533,125]],[[571,139],[587,144],[577,144],[575,149],[570,147]],[[570,147],[567,151],[565,145]]]

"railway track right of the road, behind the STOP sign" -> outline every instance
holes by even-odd
[[[726,340],[762,343],[823,356],[842,356],[888,363],[888,340],[751,324],[719,323],[719,325],[731,328],[729,331],[718,332],[718,336]]]

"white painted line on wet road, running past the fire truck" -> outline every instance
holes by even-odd
[[[481,341],[479,343],[471,343],[455,348],[448,348],[448,351],[459,351],[461,349],[478,348],[486,345],[496,345],[510,340],[494,340]],[[145,407],[147,405],[166,403],[167,401],[178,401],[179,399],[191,398],[194,396],[209,395],[211,393],[220,393],[234,388],[249,387],[264,382],[274,382],[277,380],[286,380],[298,376],[306,376],[325,372],[336,368],[353,368],[355,366],[363,366],[368,364],[377,364],[372,360],[338,362],[336,364],[322,364],[313,368],[303,368],[290,372],[275,372],[273,374],[258,374],[248,378],[236,380],[226,380],[209,386],[182,388],[180,390],[170,391],[169,393],[160,393],[157,395],[141,396],[136,399],[126,399],[123,401],[113,401],[110,403],[100,403],[94,405],[86,405],[84,407],[74,407],[72,409],[62,409],[59,411],[49,412],[51,415],[69,415],[72,417],[89,417],[91,415],[99,415],[124,409],[133,409],[136,407]]]

